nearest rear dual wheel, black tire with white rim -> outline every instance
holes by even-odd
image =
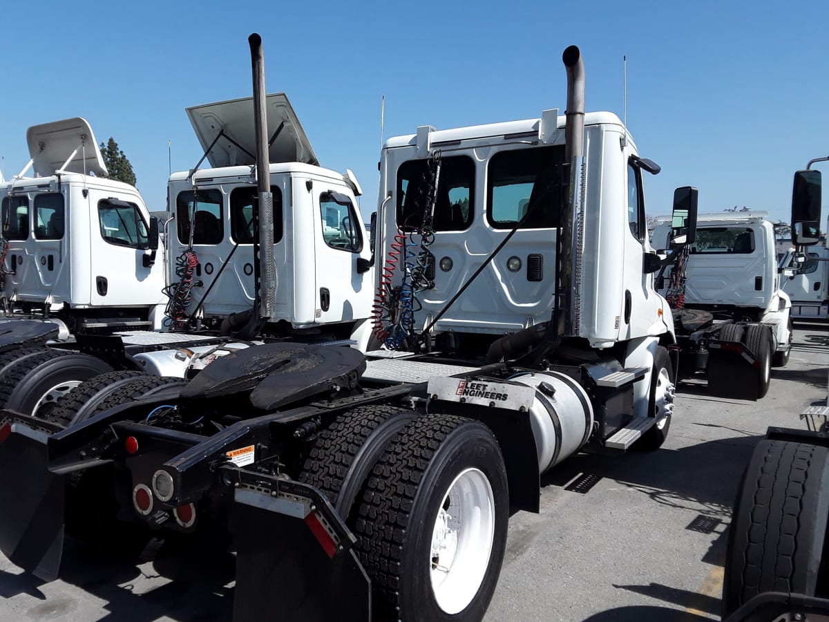
[[[479,421],[414,420],[366,484],[355,532],[373,610],[400,620],[481,620],[507,543],[501,449]]]

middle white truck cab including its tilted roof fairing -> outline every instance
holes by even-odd
[[[186,315],[220,329],[255,304],[256,173],[250,98],[187,109],[210,168],[174,173],[168,182],[168,279],[180,279],[183,254],[197,259]],[[371,245],[351,173],[319,166],[284,94],[266,98],[273,194],[274,313],[264,334],[369,336]],[[261,225],[261,223],[259,223]],[[238,324],[238,323],[237,323]],[[225,324],[226,326],[226,324]]]

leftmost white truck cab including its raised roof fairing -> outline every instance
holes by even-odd
[[[138,190],[106,177],[85,119],[33,126],[27,143],[26,168],[0,183],[7,313],[51,315],[70,332],[161,328],[163,250]]]

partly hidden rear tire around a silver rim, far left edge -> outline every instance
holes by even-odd
[[[89,354],[42,348],[42,352],[24,357],[4,370],[0,403],[13,411],[47,419],[56,407],[56,401],[41,403],[49,397],[49,391],[64,384],[68,392],[70,383],[111,371],[108,363]]]

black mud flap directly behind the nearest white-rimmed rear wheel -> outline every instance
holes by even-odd
[[[371,620],[371,582],[327,500],[295,482],[255,488],[235,489],[234,622]]]

